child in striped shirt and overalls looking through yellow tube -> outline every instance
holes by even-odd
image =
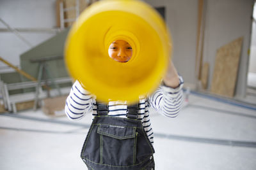
[[[129,62],[132,47],[123,40],[109,46],[109,57],[116,62]],[[72,120],[93,111],[93,122],[81,152],[88,169],[154,169],[154,133],[149,107],[166,117],[177,117],[182,106],[183,80],[170,62],[163,85],[139,103],[127,106],[126,101],[99,103],[76,81],[67,97],[65,113]]]

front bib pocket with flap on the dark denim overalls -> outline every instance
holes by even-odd
[[[136,127],[99,125],[100,163],[130,166],[136,158]]]

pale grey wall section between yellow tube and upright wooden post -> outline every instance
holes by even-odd
[[[186,83],[195,83],[197,0],[145,0],[154,7],[164,6],[166,23],[173,40],[172,60]]]

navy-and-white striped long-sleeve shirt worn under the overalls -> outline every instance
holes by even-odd
[[[154,143],[154,132],[150,123],[150,113],[148,108],[152,107],[158,113],[170,118],[177,117],[182,106],[183,80],[180,76],[179,87],[173,89],[160,85],[159,88],[148,97],[141,97],[139,102],[138,120],[147,132],[151,143]],[[127,104],[124,101],[109,101],[110,117],[126,117]],[[85,90],[79,81],[76,81],[67,97],[65,113],[71,120],[78,120],[84,117],[84,114],[92,112],[93,117],[97,116],[97,105],[95,98]]]

